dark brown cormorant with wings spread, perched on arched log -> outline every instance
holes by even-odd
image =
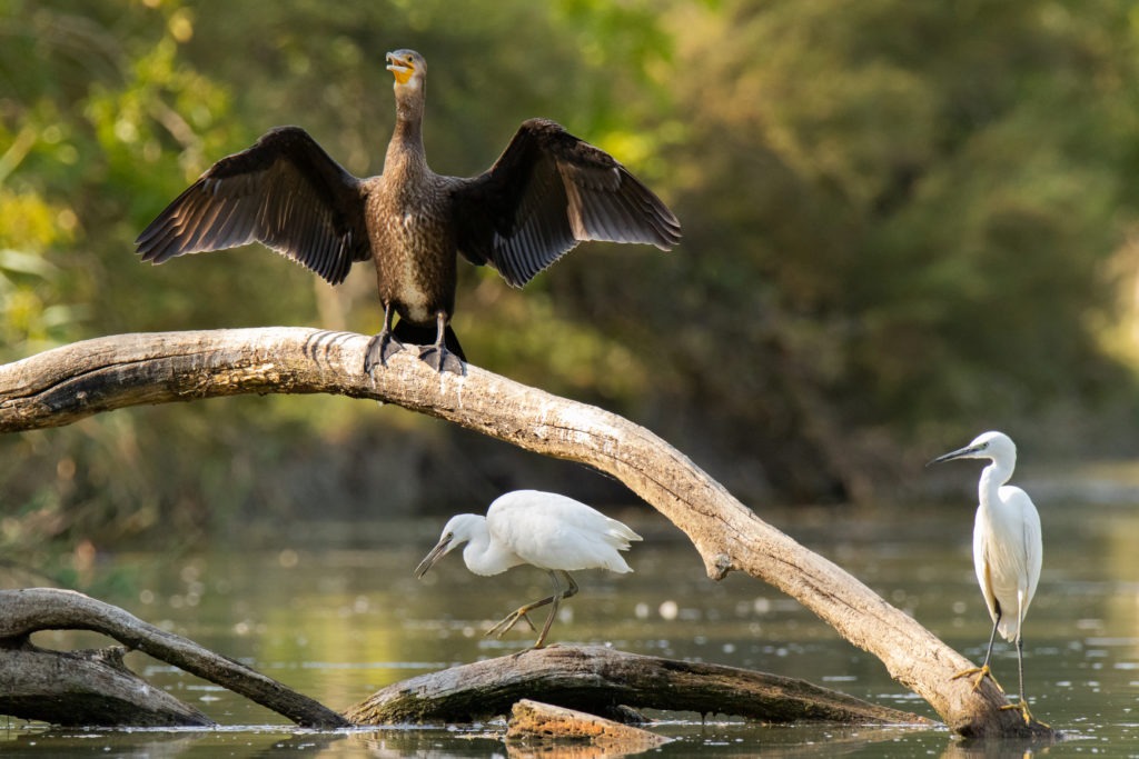
[[[395,132],[382,175],[358,179],[304,130],[274,129],[219,160],[158,214],[136,240],[142,261],[257,241],[337,284],[353,262],[371,258],[384,327],[368,345],[364,370],[401,350],[400,339],[434,336],[420,357],[437,371],[461,372],[449,323],[458,254],[522,287],[584,240],[662,250],[680,241],[680,223],[652,190],[551,121],[524,122],[478,176],[434,173],[423,143],[427,64],[396,50],[387,69]]]

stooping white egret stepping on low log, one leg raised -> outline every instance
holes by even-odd
[[[501,637],[519,619],[536,630],[527,613],[552,604],[541,634],[533,647],[540,649],[554,624],[558,605],[577,593],[577,584],[567,570],[608,569],[631,572],[620,551],[628,551],[630,541],[641,539],[637,533],[615,519],[587,506],[580,501],[541,490],[515,490],[500,496],[486,510],[486,515],[457,514],[443,528],[439,543],[419,566],[421,578],[436,561],[454,547],[467,543],[462,560],[476,575],[498,575],[518,564],[544,569],[554,581],[554,595],[527,603],[508,614],[486,632]],[[566,586],[558,583],[565,578]]]

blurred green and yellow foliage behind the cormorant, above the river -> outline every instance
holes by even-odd
[[[1123,0],[0,0],[0,361],[375,331],[367,265],[334,290],[261,248],[153,267],[132,240],[273,125],[382,171],[383,53],[412,47],[436,171],[547,116],[685,224],[671,254],[585,246],[523,291],[464,266],[475,363],[628,414],[749,500],[888,496],[990,427],[1133,453],[1137,23]],[[532,467],[343,398],[116,412],[0,440],[0,544],[453,504]]]

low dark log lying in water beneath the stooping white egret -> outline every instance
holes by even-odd
[[[606,715],[615,706],[745,717],[764,723],[929,724],[806,680],[736,667],[644,657],[605,646],[551,646],[390,685],[352,707],[358,725],[480,721],[519,699]]]

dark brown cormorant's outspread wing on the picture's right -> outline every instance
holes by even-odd
[[[454,180],[459,251],[522,287],[584,240],[680,241],[667,206],[611,155],[541,118],[524,122],[494,165]]]

